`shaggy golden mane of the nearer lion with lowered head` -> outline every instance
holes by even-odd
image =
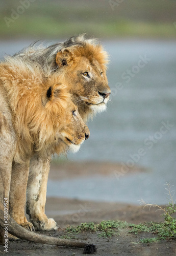
[[[0,77],[17,131],[14,160],[20,163],[35,151],[41,157],[47,157],[43,154],[53,154],[56,147],[57,153],[62,152],[62,146],[56,145],[56,134],[58,127],[61,129],[64,125],[64,113],[70,100],[66,86],[57,83],[63,78],[53,75],[44,79],[39,70],[32,70],[20,60],[12,61],[11,58],[1,63]]]

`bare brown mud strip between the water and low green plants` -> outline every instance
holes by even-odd
[[[165,207],[165,206],[162,206]],[[120,220],[139,224],[141,222],[163,222],[163,212],[158,208],[125,203],[97,202],[66,198],[46,198],[45,214],[54,218],[59,227],[79,225],[84,222]]]

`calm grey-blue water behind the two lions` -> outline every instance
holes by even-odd
[[[12,54],[30,42],[1,42],[0,49]],[[176,184],[176,44],[119,40],[104,41],[104,46],[111,59],[112,102],[106,112],[88,123],[90,138],[79,153],[68,158],[123,162],[126,168],[135,162],[149,172],[122,173],[119,179],[111,174],[93,180],[49,181],[48,196],[136,204],[143,198],[166,203],[164,184]]]

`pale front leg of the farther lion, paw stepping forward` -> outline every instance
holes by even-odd
[[[54,219],[48,219],[44,213],[49,168],[50,160],[42,160],[37,155],[32,157],[27,187],[27,214],[36,230],[58,228]]]

